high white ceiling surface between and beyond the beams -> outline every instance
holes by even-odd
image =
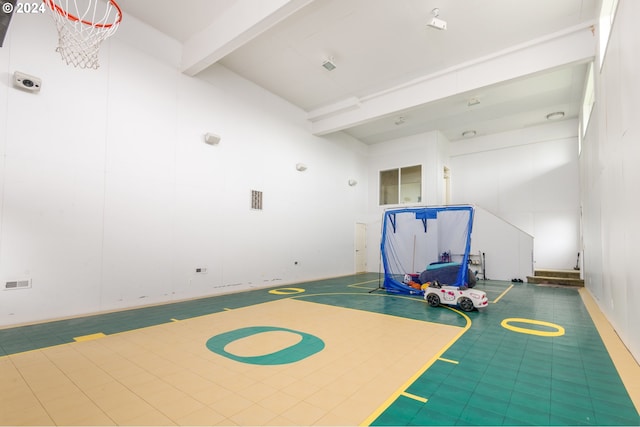
[[[233,70],[309,113],[391,93],[429,76],[481,64],[496,52],[541,44],[554,34],[593,24],[597,0],[119,0],[133,15],[184,46],[210,43],[213,62]],[[220,49],[232,17],[265,4],[286,5]],[[244,9],[243,9],[244,8]],[[283,7],[284,8],[284,7]],[[438,9],[448,28],[426,24]],[[275,8],[274,8],[275,10]],[[240,14],[240,15],[239,15]],[[266,16],[266,15],[265,15]],[[217,31],[217,32],[216,32]],[[542,42],[541,42],[542,40]],[[535,41],[535,42],[533,42]],[[197,43],[196,43],[197,42]],[[336,69],[327,71],[331,59]],[[211,62],[211,61],[210,61]],[[587,60],[549,66],[428,102],[394,103],[333,128],[373,144],[430,130],[449,140],[474,130],[491,134],[577,117]],[[201,67],[204,69],[204,67]],[[535,67],[533,67],[535,68]],[[192,72],[197,74],[197,72]],[[331,130],[331,129],[330,129]],[[321,133],[321,132],[319,132]],[[327,133],[327,132],[325,132]]]

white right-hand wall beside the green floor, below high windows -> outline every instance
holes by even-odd
[[[638,361],[639,19],[640,2],[621,0],[580,155],[585,284]]]

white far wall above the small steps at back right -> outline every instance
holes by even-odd
[[[572,269],[579,250],[577,133],[577,121],[565,120],[452,142],[452,203],[475,204],[534,236],[535,268]]]

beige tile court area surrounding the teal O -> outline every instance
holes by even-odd
[[[229,330],[277,326],[325,348],[287,365],[209,351]],[[293,299],[0,358],[3,425],[357,425],[462,328]],[[293,335],[296,337],[297,335]],[[227,346],[267,354],[295,343],[270,332]]]

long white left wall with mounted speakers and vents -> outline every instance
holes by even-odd
[[[32,280],[0,290],[0,325],[354,272],[365,146],[312,136],[223,67],[181,74],[179,44],[131,17],[97,71],[56,41],[49,16],[15,15],[0,49],[0,284]],[[15,70],[42,91],[13,88]]]

